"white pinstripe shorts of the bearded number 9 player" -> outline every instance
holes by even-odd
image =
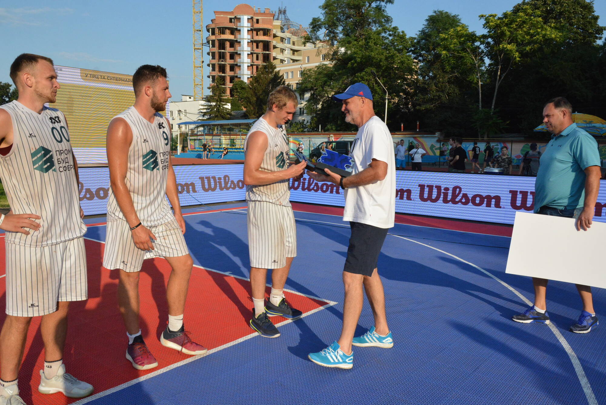
[[[175,218],[148,229],[156,236],[152,241],[154,250],[141,250],[135,246],[128,223],[122,219],[107,223],[103,267],[122,269],[125,272],[138,272],[145,259],[155,257],[178,257],[189,253],[185,238]]]

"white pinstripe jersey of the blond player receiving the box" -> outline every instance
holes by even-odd
[[[288,169],[290,149],[288,148],[288,137],[284,126],[276,129],[270,126],[263,117],[259,118],[246,135],[244,153],[247,149],[248,136],[255,131],[267,135],[267,149],[265,155],[263,155],[260,169],[265,172],[279,172]],[[279,206],[290,207],[288,184],[288,179],[285,179],[261,186],[246,186],[246,201],[271,202]]]

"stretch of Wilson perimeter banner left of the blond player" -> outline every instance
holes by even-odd
[[[173,166],[182,206],[213,202],[241,201],[245,198],[242,165]],[[110,177],[107,167],[78,170],[80,204],[85,215],[107,213]]]

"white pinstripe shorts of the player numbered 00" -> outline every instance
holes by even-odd
[[[88,298],[84,238],[50,246],[6,244],[6,313],[42,316]]]

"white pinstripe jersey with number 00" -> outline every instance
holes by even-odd
[[[38,114],[18,101],[0,105],[13,122],[13,147],[0,155],[0,176],[12,213],[42,217],[40,230],[7,232],[7,243],[49,246],[86,232],[65,116],[44,107]]]

